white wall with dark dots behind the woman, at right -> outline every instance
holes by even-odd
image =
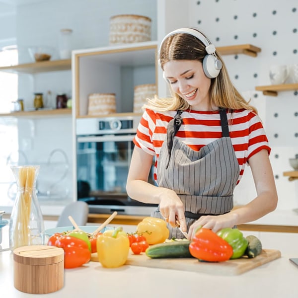
[[[251,99],[263,121],[272,148],[278,209],[297,208],[298,180],[290,182],[283,172],[292,170],[289,158],[298,154],[298,91],[271,97],[255,91],[255,86],[271,84],[272,65],[298,63],[298,1],[190,0],[188,4],[189,26],[202,30],[216,47],[252,44],[261,48],[256,58],[241,54],[222,58],[235,87]],[[255,196],[249,167],[234,195],[236,203],[243,204]]]

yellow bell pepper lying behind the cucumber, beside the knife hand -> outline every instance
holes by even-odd
[[[147,217],[137,226],[137,233],[143,234],[149,245],[163,243],[169,236],[169,229],[166,226],[166,222]]]

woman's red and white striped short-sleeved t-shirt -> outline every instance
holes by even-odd
[[[145,152],[154,155],[154,179],[159,151],[166,137],[167,125],[176,115],[176,111],[154,112],[146,109],[138,126],[134,144]],[[183,111],[183,123],[176,134],[182,142],[193,150],[199,151],[203,146],[222,138],[221,117],[219,111]],[[239,162],[239,183],[249,158],[267,149],[270,153],[268,139],[258,115],[250,110],[239,109],[227,113],[229,133],[236,157]]]

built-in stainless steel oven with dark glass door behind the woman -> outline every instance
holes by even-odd
[[[77,199],[90,213],[150,215],[157,205],[128,197],[126,180],[140,116],[76,121]],[[149,182],[153,181],[153,165]]]

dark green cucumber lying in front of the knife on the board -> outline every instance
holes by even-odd
[[[157,258],[193,258],[189,252],[190,241],[173,241],[154,244],[146,249],[146,255]]]

